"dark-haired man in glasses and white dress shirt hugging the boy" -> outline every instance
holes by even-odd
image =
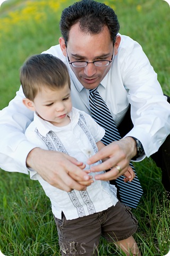
[[[102,180],[120,177],[131,159],[141,161],[154,154],[170,133],[170,107],[157,75],[141,46],[118,34],[119,28],[116,14],[109,6],[82,0],[63,11],[60,45],[46,51],[69,68],[73,106],[91,115],[89,94],[97,88],[120,133],[126,134],[89,159],[91,164],[109,157],[92,169],[111,169],[96,175],[96,179]],[[20,89],[1,113],[1,168],[28,173],[27,163],[53,186],[66,191],[86,189],[89,177],[80,169],[79,159],[35,148],[25,139],[24,131],[33,116],[22,106],[23,97]],[[134,127],[122,132],[122,127],[124,130],[130,124],[123,123],[129,107]],[[163,171],[169,177],[167,169]]]

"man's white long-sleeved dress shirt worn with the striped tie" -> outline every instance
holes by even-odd
[[[52,46],[44,53],[55,55],[67,65],[73,106],[90,114],[89,92],[75,77],[60,45]],[[130,37],[121,35],[118,53],[98,91],[117,125],[131,104],[134,127],[126,136],[138,138],[147,157],[154,154],[170,133],[170,105],[141,46]],[[25,139],[24,131],[33,114],[22,104],[23,97],[20,87],[10,105],[1,111],[0,166],[7,171],[28,173],[25,159],[34,146]]]

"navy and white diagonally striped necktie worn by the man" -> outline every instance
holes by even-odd
[[[101,141],[105,145],[108,145],[113,141],[120,140],[121,135],[117,130],[111,112],[109,111],[105,101],[98,93],[97,88],[89,90],[89,104],[92,118],[105,129],[105,136]],[[131,162],[130,166],[135,172]],[[120,195],[120,201],[130,207],[136,208],[143,194],[137,173],[135,172],[135,178],[131,182],[125,183],[123,179],[124,176],[121,175],[115,180],[116,187],[118,188],[118,193]]]

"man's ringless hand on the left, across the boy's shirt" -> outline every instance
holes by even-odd
[[[92,183],[88,171],[77,159],[57,151],[34,148],[27,157],[27,166],[39,173],[50,185],[65,190],[86,190]],[[90,172],[90,171],[89,171]]]

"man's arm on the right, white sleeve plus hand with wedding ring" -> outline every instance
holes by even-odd
[[[125,138],[112,142],[89,159],[88,164],[92,164],[103,157],[109,157],[108,161],[91,168],[95,172],[112,168],[103,176],[96,176],[103,180],[116,179],[128,170],[129,161],[137,155],[136,143],[132,137],[142,143],[145,154],[149,157],[159,149],[170,131],[170,107],[157,81],[157,74],[141,46],[127,38],[122,40],[117,59],[114,60],[114,68],[118,66],[121,69],[121,79],[117,77],[117,81],[123,81],[128,92],[134,127]],[[121,100],[118,95],[116,97]],[[141,161],[144,157],[145,155],[137,160]],[[116,165],[121,167],[118,175],[114,167]]]

